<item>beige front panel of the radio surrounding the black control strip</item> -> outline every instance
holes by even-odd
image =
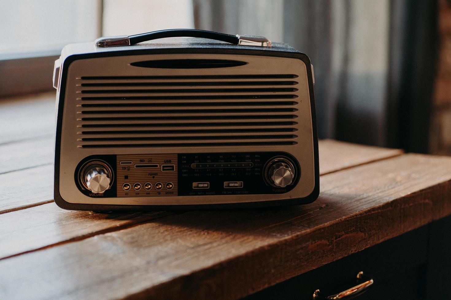
[[[226,68],[206,68],[206,69],[158,69],[158,68],[144,68],[133,67],[130,63],[153,60],[153,59],[233,59],[247,62],[246,65],[239,67],[226,67]],[[137,88],[129,86],[111,86],[111,87],[97,87],[97,86],[82,86],[83,82],[90,83],[104,83],[105,80],[97,79],[86,81],[82,80],[82,76],[199,76],[199,75],[249,75],[249,74],[295,74],[297,77],[290,79],[295,81],[294,85],[287,86],[292,88],[292,92],[284,92],[284,85],[275,83],[271,85],[266,83],[262,88],[275,89],[275,91],[260,91],[259,86],[249,84],[249,86],[243,85],[234,86],[233,84],[227,84],[227,86],[218,86],[214,84],[211,88],[203,86],[175,86],[170,89],[180,89],[180,91],[173,91],[167,93],[161,91],[161,87],[145,87]],[[210,82],[226,82],[226,81],[287,81],[288,79],[209,79]],[[180,80],[175,79],[148,79],[139,80],[139,82],[176,82]],[[188,79],[187,82],[199,82],[202,79]],[[114,79],[107,82],[137,82],[132,79]],[[247,92],[242,92],[239,89],[255,89],[252,92],[257,99],[245,98],[239,100],[240,95],[249,95]],[[135,90],[141,89],[141,91],[135,92]],[[143,93],[143,89],[149,90],[149,94]],[[167,89],[167,88],[165,88]],[[201,89],[198,94],[189,91],[189,89]],[[206,90],[208,89],[208,90]],[[225,90],[215,92],[214,89],[238,89],[230,92],[235,97],[234,99],[221,99],[221,96],[227,94]],[[109,90],[107,93],[101,93],[101,90]],[[115,90],[125,90],[125,94],[117,93]],[[131,90],[131,91],[129,91]],[[152,91],[158,90],[158,91]],[[188,90],[188,91],[187,91]],[[280,90],[280,91],[279,91]],[[83,92],[82,92],[83,91]],[[281,95],[281,98],[278,95]],[[282,96],[286,94],[294,95],[293,99],[284,99]],[[123,99],[118,99],[124,95]],[[156,99],[143,100],[143,96],[152,95]],[[199,95],[199,99],[183,99],[183,100],[171,100],[168,96],[193,98],[193,95]],[[269,95],[268,99],[260,99],[261,95]],[[95,100],[96,97],[102,98],[102,100]],[[109,97],[111,100],[108,100]],[[133,100],[138,97],[139,100]],[[158,97],[166,97],[164,103],[172,103],[170,107],[164,107],[161,105],[163,101],[158,100]],[[222,97],[224,98],[224,97]],[[208,99],[208,100],[205,100]],[[236,100],[238,99],[238,100]],[[217,118],[218,113],[212,112],[212,107],[196,107],[199,112],[190,112],[191,106],[179,107],[173,103],[199,103],[201,101],[207,101],[210,105],[214,105],[218,102],[216,109],[221,111],[221,118]],[[241,101],[241,103],[248,101],[249,105],[240,105],[237,107],[230,106],[230,103]],[[258,101],[258,104],[257,104]],[[293,102],[294,104],[285,104],[285,102]],[[163,107],[152,108],[152,119],[155,121],[149,121],[149,109],[135,108],[135,107],[120,107],[120,103],[148,103],[148,105],[160,105]],[[278,102],[281,102],[278,104]],[[96,104],[97,103],[97,104]],[[98,107],[98,103],[110,103],[107,111]],[[159,103],[159,104],[158,104]],[[268,103],[265,105],[265,103]],[[88,104],[88,105],[86,105]],[[89,107],[89,104],[93,104],[97,107]],[[116,105],[116,106],[115,106]],[[119,106],[118,106],[119,105]],[[169,104],[168,104],[169,105]],[[182,105],[182,104],[180,104]],[[197,105],[197,104],[196,104]],[[224,105],[221,106],[221,105]],[[258,106],[257,106],[258,105]],[[230,111],[230,108],[232,110]],[[184,112],[172,113],[174,109],[182,109]],[[239,109],[238,112],[233,109]],[[159,110],[162,110],[161,112]],[[169,113],[167,111],[170,111]],[[242,112],[241,112],[242,111]],[[98,130],[98,128],[85,128],[82,126],[98,124],[106,127],[101,130],[116,130],[115,125],[129,124],[133,125],[133,130],[148,129],[150,123],[161,126],[166,117],[171,116],[189,116],[193,117],[193,120],[186,121],[183,119],[172,118],[170,123],[172,127],[170,129],[208,129],[212,128],[209,123],[223,122],[221,126],[215,128],[237,128],[236,125],[243,122],[267,122],[265,128],[274,129],[284,127],[277,125],[277,122],[292,121],[292,127],[294,132],[290,134],[285,133],[262,133],[262,134],[240,134],[244,137],[239,139],[239,143],[230,137],[230,134],[211,134],[211,133],[199,133],[195,134],[199,136],[200,142],[194,143],[194,146],[176,146],[177,141],[170,142],[168,146],[167,141],[152,141],[152,147],[139,147],[142,141],[130,140],[124,142],[127,137],[133,135],[121,131],[121,135],[118,135],[118,140],[114,141],[91,141],[89,139],[102,138],[104,134],[96,135],[91,133],[89,135],[82,134],[89,130]],[[210,117],[211,115],[211,117]],[[122,121],[117,117],[127,119]],[[147,121],[142,121],[140,119]],[[290,119],[287,119],[290,116]],[[101,121],[91,121],[91,119],[98,119]],[[198,118],[198,120],[196,120]],[[118,121],[119,120],[119,121]],[[131,120],[131,121],[130,121]],[[213,121],[212,121],[213,120]],[[221,121],[222,120],[222,121]],[[141,123],[147,124],[147,127],[139,127]],[[202,124],[206,125],[203,126]],[[174,127],[174,124],[176,125]],[[179,124],[179,126],[177,125]],[[108,127],[110,126],[110,127]],[[203,126],[203,127],[202,127]],[[243,125],[242,128],[250,129],[253,125]],[[287,126],[285,126],[287,127]],[[284,128],[285,128],[284,127]],[[160,127],[158,127],[160,128]],[[123,128],[121,129],[123,130]],[[124,132],[124,133],[122,133]],[[179,136],[180,134],[169,134],[169,136]],[[189,139],[193,134],[184,134]],[[235,134],[236,135],[236,134]],[[246,135],[249,135],[247,140]],[[287,136],[286,139],[279,139]],[[109,136],[115,136],[110,134]],[[155,136],[161,136],[156,134]],[[225,137],[225,138],[222,138]],[[227,138],[228,137],[228,138]],[[121,140],[122,139],[122,140]],[[230,140],[229,140],[230,139]],[[276,141],[276,142],[275,142]],[[258,142],[261,144],[244,145],[244,143]],[[285,144],[277,144],[277,143]],[[205,143],[207,146],[201,146]],[[216,146],[215,143],[229,143],[221,146]],[[232,145],[236,143],[236,145]],[[273,144],[271,144],[273,143]],[[146,142],[149,144],[149,142]],[[161,147],[159,146],[161,144]],[[242,145],[243,144],[243,145]],[[96,145],[100,145],[100,148],[96,148]],[[118,145],[115,147],[115,145]],[[89,148],[93,147],[93,148]],[[83,195],[77,188],[74,182],[74,172],[77,164],[85,157],[93,154],[119,154],[119,155],[131,155],[131,154],[143,154],[143,153],[197,153],[197,152],[259,152],[259,151],[284,151],[292,154],[299,161],[302,170],[302,176],[297,186],[285,194],[277,195],[246,195],[240,196],[190,196],[180,197],[171,196],[145,196],[145,197],[117,197],[117,198],[92,198]],[[60,194],[65,201],[71,203],[86,203],[86,204],[112,204],[112,205],[180,205],[180,204],[214,204],[214,203],[234,203],[234,202],[250,202],[250,201],[268,201],[268,200],[280,200],[290,199],[308,196],[314,188],[314,159],[313,159],[313,134],[312,134],[312,119],[311,119],[311,107],[308,91],[307,70],[304,63],[300,59],[296,58],[280,58],[280,57],[265,57],[265,56],[253,56],[253,55],[226,55],[226,54],[149,54],[149,55],[134,55],[134,56],[122,56],[122,57],[110,57],[110,58],[91,58],[84,60],[77,60],[69,66],[68,81],[66,83],[65,101],[64,101],[64,114],[62,125],[62,137],[61,137],[61,149],[60,149]]]

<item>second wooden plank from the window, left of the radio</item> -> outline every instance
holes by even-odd
[[[53,137],[41,137],[0,145],[0,174],[53,163],[54,143]]]

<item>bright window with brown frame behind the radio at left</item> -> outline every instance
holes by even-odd
[[[191,0],[2,0],[0,96],[52,89],[64,45],[193,27]]]

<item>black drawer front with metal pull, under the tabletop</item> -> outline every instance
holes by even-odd
[[[428,227],[416,229],[376,246],[326,264],[246,299],[312,299],[356,286],[360,271],[374,283],[357,299],[423,299],[428,257]],[[323,299],[323,298],[319,298]]]

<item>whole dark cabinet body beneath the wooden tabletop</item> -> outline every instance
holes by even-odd
[[[354,299],[451,299],[450,254],[451,217],[447,217],[245,299],[308,300],[317,289],[321,296],[334,295],[356,286],[360,271],[374,283]]]

